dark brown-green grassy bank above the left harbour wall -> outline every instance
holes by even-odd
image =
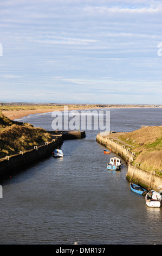
[[[51,141],[51,135],[31,124],[18,123],[6,118],[0,111],[0,158]]]

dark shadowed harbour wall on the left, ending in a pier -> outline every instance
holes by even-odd
[[[46,142],[43,145],[36,145],[30,150],[20,151],[19,154],[6,156],[5,158],[0,159],[0,178],[12,175],[16,170],[20,170],[29,164],[47,157],[54,149],[61,146],[64,139],[77,139],[86,136],[85,131],[51,131],[50,133],[53,135],[52,141]]]

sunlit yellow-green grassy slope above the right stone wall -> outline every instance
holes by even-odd
[[[147,126],[119,136],[119,139],[129,144],[135,152],[134,163],[140,168],[160,174],[162,170],[162,126]]]

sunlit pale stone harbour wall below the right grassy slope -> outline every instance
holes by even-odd
[[[111,136],[109,136],[111,137]],[[108,135],[105,136],[105,133],[99,133],[96,136],[96,142],[104,145],[106,148],[111,148],[111,150],[122,157],[126,163],[128,163],[128,171],[126,179],[135,184],[139,184],[146,190],[155,190],[159,191],[162,188],[162,178],[157,175],[157,173],[152,170],[147,172],[139,168],[139,164],[136,163],[133,165],[131,162],[134,160],[135,152],[131,152],[129,148],[125,148],[125,145],[122,143],[119,144],[119,141],[114,141],[112,138],[109,138]]]

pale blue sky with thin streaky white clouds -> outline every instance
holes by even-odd
[[[0,102],[162,104],[162,1],[1,0]]]

